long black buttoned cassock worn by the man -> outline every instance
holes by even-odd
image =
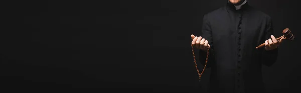
[[[207,67],[211,68],[212,92],[263,92],[262,65],[271,66],[278,48],[266,51],[256,46],[271,38],[271,17],[244,4],[227,3],[204,15],[201,36],[211,45]],[[200,51],[204,65],[206,52]],[[205,71],[206,72],[206,71]]]

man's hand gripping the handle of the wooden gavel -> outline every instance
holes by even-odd
[[[265,40],[265,50],[268,51],[276,49],[282,43],[283,39],[285,38],[282,37],[279,41],[277,41],[275,36],[271,35],[271,39]]]

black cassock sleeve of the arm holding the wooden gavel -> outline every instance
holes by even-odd
[[[271,35],[274,34],[274,29],[273,29],[273,23],[270,17],[268,17],[268,23],[267,23],[267,29],[266,29],[266,35],[265,35],[265,40],[268,40],[271,38]],[[264,40],[264,41],[265,41]],[[273,50],[265,50],[265,47],[262,48],[262,63],[266,66],[271,66],[273,65],[278,57],[278,48],[273,49]]]

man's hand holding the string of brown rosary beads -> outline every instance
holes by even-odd
[[[205,38],[202,38],[201,36],[197,37],[197,36],[191,35],[191,39],[192,39],[191,44],[193,46],[195,46],[197,49],[207,51],[207,49],[210,48],[208,41]]]

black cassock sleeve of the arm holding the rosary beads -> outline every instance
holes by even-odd
[[[211,27],[210,27],[210,23],[208,21],[207,14],[205,14],[203,17],[201,36],[202,36],[202,38],[205,38],[206,40],[208,40],[208,43],[210,45],[209,56],[208,56],[208,61],[207,61],[207,66],[206,66],[209,68],[214,64],[215,58],[214,58],[214,54],[213,54],[214,45],[212,42],[212,32],[211,32]],[[207,57],[207,50],[206,51],[199,50],[199,61],[201,62],[201,64],[203,66],[205,65],[206,57]]]

